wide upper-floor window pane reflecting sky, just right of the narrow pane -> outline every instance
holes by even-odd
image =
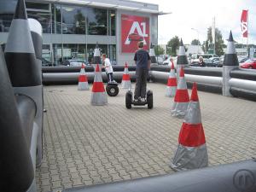
[[[85,34],[85,12],[80,7],[62,6],[62,32]]]

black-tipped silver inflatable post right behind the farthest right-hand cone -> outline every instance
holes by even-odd
[[[183,39],[180,39],[179,49],[177,54],[177,79],[179,78],[180,69],[189,65],[188,57],[186,55]]]

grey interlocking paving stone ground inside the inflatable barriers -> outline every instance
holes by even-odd
[[[134,84],[132,84],[134,87]],[[154,108],[125,108],[125,90],[91,106],[76,85],[44,86],[44,160],[38,191],[174,173],[183,119],[171,116],[164,84],[148,84]],[[190,90],[189,90],[190,92]],[[199,91],[210,166],[256,157],[256,102]]]

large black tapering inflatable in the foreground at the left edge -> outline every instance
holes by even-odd
[[[0,191],[26,191],[34,179],[32,159],[1,48],[0,87]]]

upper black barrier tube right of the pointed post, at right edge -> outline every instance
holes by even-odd
[[[230,77],[235,79],[245,79],[256,81],[256,70],[253,69],[234,69],[230,72]]]

